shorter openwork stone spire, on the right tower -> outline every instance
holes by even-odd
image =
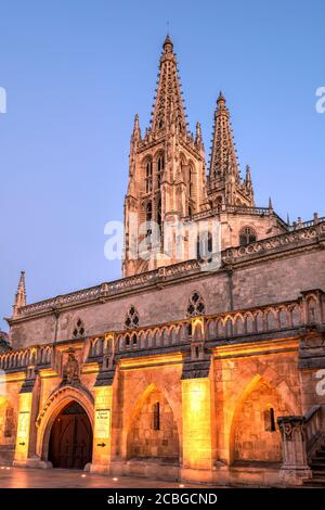
[[[220,92],[214,112],[212,150],[210,158],[210,179],[229,173],[239,175],[234,138],[230,123],[230,113],[225,99]]]

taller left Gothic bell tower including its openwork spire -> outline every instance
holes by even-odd
[[[150,128],[142,137],[135,115],[131,136],[123,277],[176,264],[177,239],[165,239],[166,225],[208,207],[200,125],[197,123],[195,136],[187,130],[177,55],[169,36],[162,44],[155,92]]]

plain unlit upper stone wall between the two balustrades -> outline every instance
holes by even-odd
[[[206,314],[258,307],[286,299],[297,299],[301,290],[325,289],[325,251],[295,256],[256,260],[256,264],[233,267],[233,304],[230,281],[225,271],[200,273],[195,281],[183,280],[166,288],[144,289],[134,295],[121,296],[106,303],[62,311],[57,322],[57,341],[73,336],[79,318],[87,335],[120,331],[131,305],[135,306],[140,323],[160,324],[184,319],[193,291],[205,299]],[[55,318],[46,316],[16,323],[11,329],[14,348],[51,343],[54,340]]]

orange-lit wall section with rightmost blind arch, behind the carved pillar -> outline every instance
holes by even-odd
[[[278,433],[263,434],[262,415],[268,404],[274,406],[275,419],[277,416],[301,413],[297,345],[297,341],[280,340],[277,344],[261,342],[216,349],[218,359],[213,379],[218,459],[230,464],[238,458],[278,460],[275,439]],[[276,347],[278,352],[273,353]],[[264,384],[270,391],[259,395],[260,388],[265,388]]]

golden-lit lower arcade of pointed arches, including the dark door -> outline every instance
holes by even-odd
[[[159,355],[145,368],[125,361],[110,385],[96,385],[98,372],[70,383],[66,368],[61,382],[40,374],[34,396],[14,383],[18,406],[14,398],[0,406],[1,462],[11,448],[16,466],[232,483],[240,466],[259,464],[263,480],[278,476],[277,418],[301,412],[295,354],[230,360],[226,347],[216,353],[222,359],[205,378],[182,379],[181,358]]]

